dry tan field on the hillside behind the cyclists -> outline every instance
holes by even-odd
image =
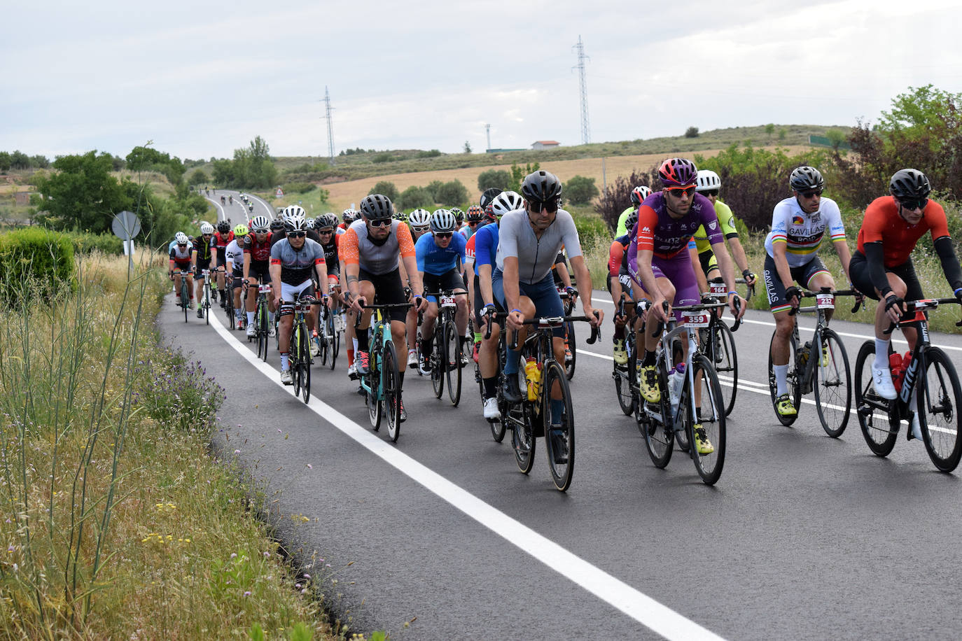
[[[774,147],[765,147],[765,149],[773,150]],[[805,149],[808,149],[808,147],[801,145],[797,147],[788,147],[788,153],[790,155],[796,154]],[[704,157],[711,157],[718,154],[719,151],[721,150],[707,150],[698,152],[698,154]],[[694,156],[694,154],[686,154],[686,156]],[[647,171],[662,160],[665,160],[665,158],[667,157],[664,154],[646,154],[644,156],[611,156],[604,160],[604,173],[608,182],[612,183],[617,177],[628,176],[636,169],[640,171]],[[544,162],[541,168],[557,175],[562,181],[567,181],[572,176],[587,176],[589,178],[594,178],[595,185],[598,185],[598,188],[600,189],[601,185],[603,185],[601,180],[601,164],[602,160],[599,158],[558,160],[555,162]],[[331,204],[332,209],[334,210],[342,210],[347,207],[352,207],[352,204],[353,206],[356,206],[357,203],[367,195],[367,192],[370,191],[370,188],[379,181],[391,182],[397,187],[398,191],[404,191],[411,185],[426,186],[432,181],[442,181],[446,183],[448,181],[457,179],[468,187],[468,193],[471,194],[471,199],[475,200],[481,195],[481,192],[477,188],[478,175],[491,169],[504,169],[510,171],[511,165],[500,164],[486,167],[468,167],[466,169],[443,169],[440,171],[389,174],[386,176],[363,178],[356,181],[331,183],[329,185],[322,186],[331,192],[328,202]]]

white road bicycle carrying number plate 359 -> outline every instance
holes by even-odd
[[[736,303],[741,305],[741,301]],[[656,467],[664,468],[671,460],[672,445],[678,446],[692,456],[695,469],[701,481],[713,485],[722,477],[725,456],[725,413],[722,384],[715,372],[714,364],[701,353],[696,340],[696,331],[705,330],[711,324],[712,309],[725,307],[724,303],[701,303],[673,308],[681,312],[683,322],[679,325],[673,318],[668,323],[658,323],[652,336],[661,335],[661,343],[656,351],[656,370],[660,399],[657,403],[644,402],[639,398],[639,430],[645,436],[648,456]],[[668,304],[663,307],[667,313]],[[736,319],[734,330],[738,329],[740,319]],[[677,405],[672,403],[669,370],[673,361],[674,339],[688,334],[688,357],[685,362],[684,380],[677,395]],[[715,450],[711,454],[698,454],[693,446],[696,442],[696,425],[701,426],[704,437]]]

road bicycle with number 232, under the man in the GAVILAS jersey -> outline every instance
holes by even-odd
[[[848,412],[851,410],[851,372],[848,367],[848,354],[842,339],[831,328],[825,313],[835,308],[837,296],[860,296],[853,289],[832,291],[830,287],[823,287],[817,292],[804,292],[802,298],[814,298],[815,305],[807,308],[791,309],[789,315],[793,318],[792,334],[789,336],[789,370],[786,375],[789,397],[796,413],[782,416],[778,413],[778,384],[775,382],[774,365],[772,364],[772,341],[769,345],[769,392],[772,396],[772,407],[775,416],[784,426],[790,426],[798,418],[798,408],[801,407],[801,397],[804,394],[815,393],[815,408],[819,414],[819,421],[826,434],[832,438],[842,435],[848,426]],[[858,311],[862,305],[857,299],[852,313]],[[811,341],[801,344],[798,334],[798,312],[812,312],[817,316],[815,331]]]

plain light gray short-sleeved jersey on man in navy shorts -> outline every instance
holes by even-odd
[[[558,210],[541,238],[531,229],[525,210],[509,211],[498,225],[495,262],[497,268],[504,271],[504,257],[513,256],[518,259],[518,280],[525,284],[539,283],[551,272],[562,247],[569,259],[581,256],[578,230],[568,211]]]

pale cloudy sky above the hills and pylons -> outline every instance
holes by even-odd
[[[229,157],[851,125],[909,86],[962,91],[957,2],[210,0],[7,3],[0,150]]]

